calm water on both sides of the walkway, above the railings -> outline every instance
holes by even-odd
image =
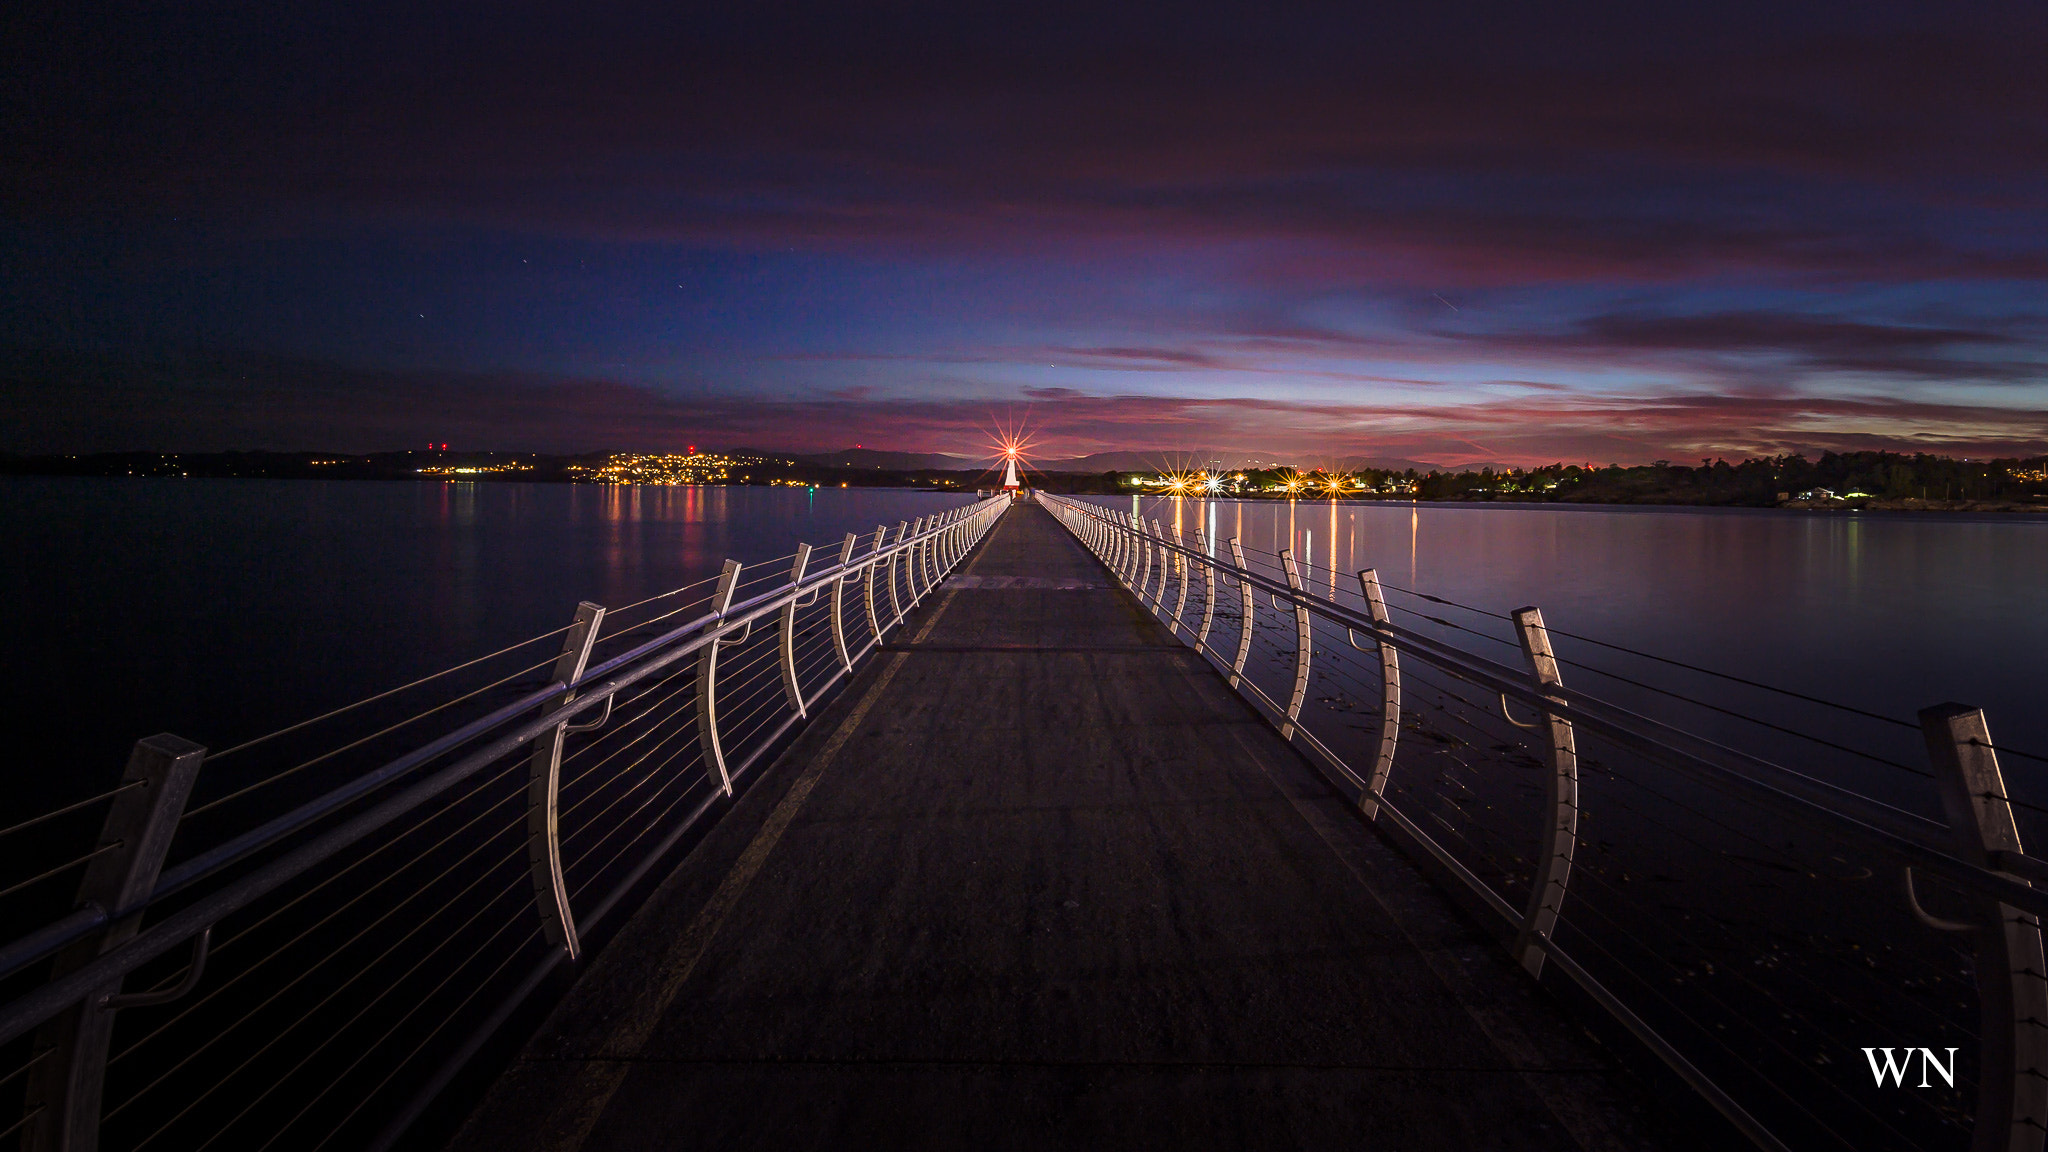
[[[78,777],[109,779],[150,732],[219,748],[559,627],[584,599],[625,605],[711,576],[727,556],[829,547],[958,502],[836,488],[8,480],[0,588],[12,605],[6,691],[27,740],[16,771],[49,785],[31,791],[76,793]],[[1196,500],[1147,500],[1145,515],[1266,553],[1292,541],[1313,556],[1313,580],[1343,596],[1350,574],[1374,566],[1397,588],[1499,613],[1534,603],[1556,629],[1886,715],[1976,703],[1999,742],[2048,750],[2042,521]],[[1505,635],[1485,617],[1391,601]],[[1589,646],[1561,650],[1776,707]],[[1628,695],[1585,672],[1575,683]],[[1911,732],[1845,734],[1917,754]],[[2040,765],[2007,769],[2048,795]]]

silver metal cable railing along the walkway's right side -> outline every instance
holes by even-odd
[[[1438,607],[1397,623],[1370,568],[1339,601],[1337,574],[1311,578],[1288,549],[1247,558],[1239,539],[1184,539],[1135,510],[1036,500],[1366,820],[1495,920],[1524,970],[1563,974],[1759,1148],[1946,1148],[1964,1134],[1978,1152],[2042,1148],[2048,859],[2021,849],[2040,810],[2009,795],[1980,709],[1921,711],[1927,771],[1868,756],[1931,777],[1935,820],[1567,687],[1573,662],[1536,607],[1479,613],[1511,637],[1423,615]],[[1944,914],[1923,906],[1929,890]],[[1921,1062],[1886,1095],[1898,1047]]]

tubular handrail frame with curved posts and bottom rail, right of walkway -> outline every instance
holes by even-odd
[[[1673,769],[1683,779],[1735,795],[1747,808],[1769,810],[1827,836],[1849,838],[1876,849],[1880,855],[1890,857],[1892,863],[1903,865],[1909,902],[1913,869],[1942,875],[1960,892],[1972,894],[1976,904],[1972,922],[1931,920],[1919,910],[1917,902],[1913,902],[1913,912],[1921,922],[1944,931],[1968,931],[1976,939],[1978,955],[1974,972],[1980,1039],[1985,1045],[1978,1082],[1976,1146],[2007,1148],[2009,1136],[2011,1148],[2040,1148],[2044,1121],[2048,1121],[2048,1082],[2036,1072],[2036,1068],[2048,1066],[2048,1037],[2042,1035],[2038,1025],[2040,1019],[2048,1019],[2044,1017],[2048,1013],[2048,980],[2042,976],[2044,949],[2040,933],[2040,918],[2048,916],[2048,888],[2034,888],[2028,881],[2048,877],[2048,859],[2030,857],[2021,851],[2007,808],[2007,789],[1999,775],[1991,740],[1985,734],[1980,709],[1937,705],[1921,713],[1921,730],[1927,738],[1929,756],[1935,760],[1933,777],[1942,785],[1942,801],[1948,816],[1948,822],[1929,820],[1847,787],[1677,730],[1581,689],[1565,687],[1556,676],[1556,660],[1550,654],[1542,613],[1532,607],[1503,617],[1511,619],[1520,631],[1520,648],[1530,660],[1530,670],[1524,672],[1454,648],[1436,635],[1391,623],[1384,609],[1362,613],[1337,605],[1335,596],[1327,601],[1317,599],[1303,588],[1288,551],[1280,551],[1278,556],[1284,578],[1274,578],[1251,570],[1237,539],[1229,541],[1235,562],[1227,562],[1208,551],[1186,547],[1178,539],[1169,541],[1163,533],[1145,533],[1143,521],[1135,512],[1126,523],[1126,515],[1104,510],[1090,502],[1047,494],[1040,494],[1038,500],[1085,547],[1102,558],[1112,572],[1128,576],[1128,553],[1143,543],[1147,558],[1151,547],[1159,547],[1163,556],[1180,553],[1186,562],[1202,566],[1204,586],[1212,588],[1219,578],[1223,582],[1235,578],[1243,596],[1237,660],[1225,660],[1200,640],[1194,644],[1196,652],[1214,664],[1229,678],[1229,685],[1243,693],[1253,703],[1253,709],[1284,740],[1300,746],[1307,758],[1339,791],[1348,793],[1368,820],[1386,814],[1395,828],[1427,857],[1444,865],[1450,877],[1468,888],[1481,906],[1499,914],[1513,933],[1511,951],[1532,976],[1542,974],[1544,959],[1554,961],[1556,972],[1563,972],[1577,984],[1759,1148],[1782,1152],[1786,1144],[1552,937],[1552,924],[1559,922],[1567,896],[1571,853],[1579,836],[1575,830],[1575,730],[1597,734],[1608,744]],[[1204,543],[1214,547],[1214,541]],[[1186,582],[1186,578],[1184,574],[1182,580]],[[1130,584],[1128,578],[1124,582]],[[1139,590],[1141,603],[1145,603],[1143,580],[1133,586]],[[1368,609],[1374,609],[1378,586],[1372,570],[1360,572],[1360,586]],[[1161,582],[1159,592],[1153,594],[1153,605],[1157,605],[1163,592],[1165,584]],[[1272,699],[1260,685],[1241,674],[1251,644],[1255,592],[1266,592],[1272,607],[1296,613],[1294,689],[1288,703]],[[1534,869],[1528,910],[1518,910],[1487,879],[1481,879],[1481,875],[1466,867],[1456,853],[1438,842],[1419,820],[1401,812],[1382,795],[1384,767],[1393,760],[1393,744],[1399,732],[1395,726],[1401,715],[1397,670],[1382,664],[1386,695],[1395,703],[1389,703],[1380,717],[1378,763],[1370,775],[1356,771],[1303,726],[1300,699],[1309,678],[1311,617],[1321,617],[1335,627],[1343,627],[1350,648],[1364,652],[1366,648],[1358,644],[1358,633],[1366,633],[1380,646],[1382,658],[1395,652],[1405,654],[1456,681],[1485,689],[1481,699],[1497,695],[1503,709],[1513,699],[1536,711],[1538,719],[1532,724],[1522,724],[1507,715],[1507,722],[1516,728],[1546,732],[1540,742],[1552,760],[1544,801],[1548,820],[1552,820],[1544,828],[1544,845],[1548,845],[1546,851],[1550,855]],[[1178,609],[1174,623],[1178,623]]]

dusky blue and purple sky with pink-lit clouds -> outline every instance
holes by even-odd
[[[2048,451],[2048,8],[10,6],[0,451]]]

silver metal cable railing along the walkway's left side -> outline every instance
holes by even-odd
[[[152,736],[119,787],[8,822],[0,838],[33,838],[104,806],[90,851],[0,879],[18,902],[82,873],[70,912],[0,945],[0,1107],[18,1105],[0,1140],[397,1144],[1008,504],[848,535],[829,564],[809,545],[764,576],[727,560],[618,613],[584,603],[561,629],[211,756]],[[647,619],[618,627],[627,611]],[[453,672],[487,678],[373,719],[422,685],[455,691]],[[305,744],[344,713],[369,732]],[[188,804],[256,746],[305,758]],[[231,820],[266,797],[283,810]]]

